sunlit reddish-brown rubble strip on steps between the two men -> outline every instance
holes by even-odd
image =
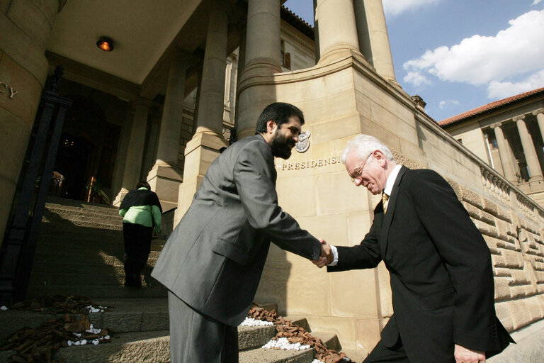
[[[279,340],[280,338],[286,338],[290,343],[300,345],[309,345],[315,349],[315,358],[323,363],[341,363],[352,362],[351,359],[346,357],[345,353],[336,352],[330,350],[322,342],[321,339],[313,337],[304,328],[293,324],[290,320],[287,320],[281,316],[278,316],[276,311],[267,311],[266,309],[259,308],[256,304],[251,307],[247,313],[248,318],[254,318],[255,320],[270,321],[276,325],[276,337],[273,340]],[[355,363],[355,362],[352,362]]]

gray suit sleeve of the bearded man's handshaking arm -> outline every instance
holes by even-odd
[[[249,224],[266,233],[283,250],[307,259],[317,259],[321,254],[319,240],[307,230],[302,230],[295,218],[278,206],[273,183],[276,171],[268,145],[249,145],[255,147],[244,147],[234,164],[234,182]]]

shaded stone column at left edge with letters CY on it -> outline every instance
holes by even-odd
[[[0,1],[0,235],[47,78],[47,39],[63,5],[59,0]]]

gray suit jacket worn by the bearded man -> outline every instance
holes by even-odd
[[[321,252],[319,240],[278,206],[272,152],[261,135],[254,135],[212,162],[152,277],[196,311],[239,325],[259,286],[271,241],[307,259]]]

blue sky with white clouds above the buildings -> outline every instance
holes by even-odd
[[[288,0],[312,24],[312,0]],[[544,86],[544,0],[383,0],[397,81],[436,121]]]

